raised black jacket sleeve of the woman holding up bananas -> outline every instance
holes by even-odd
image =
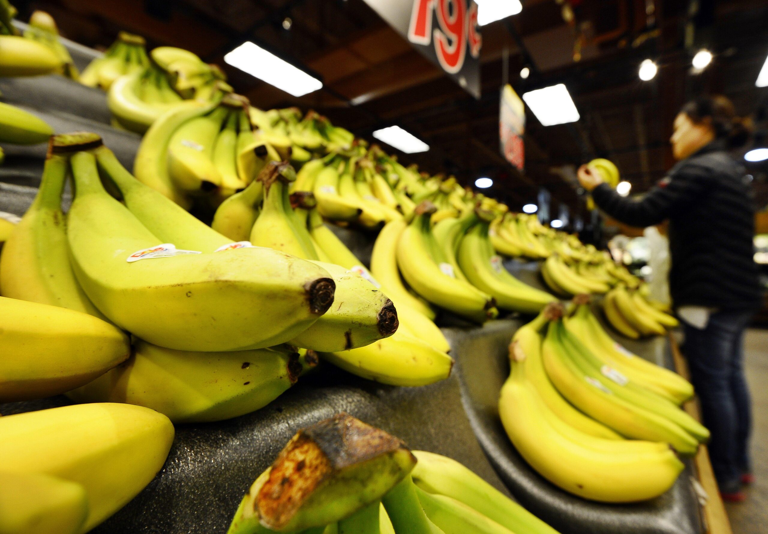
[[[710,187],[710,173],[687,166],[648,191],[641,199],[619,195],[607,183],[592,190],[594,203],[617,221],[643,228],[679,215],[697,201]]]

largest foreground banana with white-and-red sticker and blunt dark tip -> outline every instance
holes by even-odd
[[[92,153],[75,153],[71,166],[75,275],[94,305],[134,335],[177,350],[263,348],[293,338],[333,302],[324,269],[260,247],[127,262],[160,239],[104,190]]]

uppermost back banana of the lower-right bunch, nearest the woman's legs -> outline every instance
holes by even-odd
[[[588,304],[578,305],[574,315],[564,319],[564,323],[604,364],[616,368],[632,381],[675,404],[682,404],[693,397],[694,387],[689,381],[674,371],[645,361],[616,343],[603,330]]]

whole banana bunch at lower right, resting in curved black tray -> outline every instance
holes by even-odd
[[[531,467],[569,493],[606,503],[653,499],[684,468],[670,445],[690,455],[709,432],[670,400],[674,391],[680,401],[685,381],[617,356],[585,306],[565,319],[557,306],[545,308],[515,333],[499,398],[502,424]],[[631,375],[611,366],[617,358]]]

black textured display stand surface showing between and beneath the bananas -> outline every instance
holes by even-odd
[[[140,137],[108,126],[101,91],[60,77],[0,78],[3,99],[38,114],[58,133],[100,133],[128,169]],[[58,94],[58,97],[55,95]],[[82,118],[87,117],[87,118]],[[0,210],[21,216],[36,193],[45,147],[4,146]],[[65,195],[65,206],[69,196]],[[373,236],[333,227],[363,262]],[[534,262],[505,262],[523,281],[541,286]],[[563,534],[699,534],[707,532],[691,483],[690,462],[673,489],[648,503],[611,506],[564,493],[538,476],[511,446],[498,419],[498,392],[508,375],[507,345],[524,318],[502,318],[482,328],[443,318],[456,359],[446,381],[427,387],[389,387],[321,365],[286,394],[253,414],[213,424],[177,425],[176,440],[161,473],[131,503],[93,532],[138,534],[226,532],[237,503],[293,433],[339,411],[381,427],[414,449],[465,463]],[[666,339],[621,342],[631,351],[671,366]],[[0,414],[67,404],[65,397],[0,404]],[[546,443],[541,444],[546,447]],[[498,473],[498,474],[497,474]],[[714,534],[719,534],[715,532]]]

